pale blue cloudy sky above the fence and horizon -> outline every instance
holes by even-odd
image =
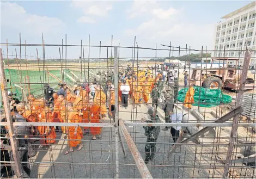
[[[67,34],[68,44],[138,46],[155,48],[160,44],[212,49],[215,24],[220,18],[251,1],[1,1],[1,43],[61,44]],[[19,55],[19,47],[17,53]],[[42,48],[39,48],[39,55]],[[109,50],[109,49],[108,49]],[[6,54],[6,48],[3,47]],[[15,52],[9,47],[9,52]],[[22,55],[25,53],[22,48]],[[35,55],[36,47],[27,53]],[[46,47],[46,57],[59,57],[58,47]],[[84,48],[88,57],[88,48]],[[108,56],[110,50],[108,51]],[[137,53],[137,51],[136,51]],[[168,51],[157,52],[168,57]],[[68,47],[67,57],[77,58],[80,47]],[[120,50],[121,57],[131,57],[130,49]],[[139,50],[139,57],[154,57],[155,51]],[[99,48],[90,48],[90,57],[99,58]],[[107,57],[106,48],[101,57]]]

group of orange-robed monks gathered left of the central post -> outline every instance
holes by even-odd
[[[80,123],[99,123],[106,115],[106,95],[103,93],[100,84],[95,84],[95,96],[91,96],[89,92],[79,87],[79,95],[72,89],[66,89],[66,94],[58,95],[53,92],[54,98],[52,108],[48,107],[46,100],[43,98],[36,99],[34,95],[28,95],[28,105],[20,103],[17,105],[17,112],[21,114],[28,122],[70,122],[77,123],[77,126],[64,127],[59,130],[59,127],[42,126],[34,127],[33,135],[38,135],[40,138],[39,148],[49,146],[56,143],[56,132],[62,132],[62,138],[69,139],[68,154],[73,151],[74,147],[81,150],[83,144],[81,139],[83,134],[90,132],[92,140],[96,140],[96,136],[100,135],[101,127],[80,127]],[[113,95],[114,96],[114,95]],[[113,103],[113,100],[112,100]]]

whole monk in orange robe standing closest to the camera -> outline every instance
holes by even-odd
[[[69,112],[68,122],[78,124],[78,122],[80,120],[80,116],[72,108],[71,102],[66,103],[66,109]],[[75,126],[68,127],[67,135],[68,135],[68,139],[69,139],[69,142],[68,142],[69,150],[66,151],[64,154],[66,155],[70,152],[73,152],[73,147],[76,147],[78,144],[80,144],[80,145],[77,148],[77,150],[81,150],[83,147],[83,144],[81,144],[81,139],[83,138],[83,131],[82,131],[81,127],[78,125],[76,127]]]

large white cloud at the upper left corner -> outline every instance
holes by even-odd
[[[16,3],[1,2],[1,28],[38,35],[57,33],[64,27],[64,22],[59,18],[28,14]]]

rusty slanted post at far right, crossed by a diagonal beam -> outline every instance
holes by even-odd
[[[243,61],[242,73],[241,73],[241,80],[240,80],[240,84],[239,84],[239,93],[236,98],[235,108],[242,105],[243,91],[245,90],[245,83],[246,83],[246,78],[247,78],[251,55],[252,55],[252,52],[249,52],[248,49],[246,49],[245,58]],[[223,174],[224,178],[228,177],[229,165],[230,165],[232,152],[233,152],[234,145],[235,145],[235,138],[236,138],[236,134],[237,134],[237,127],[238,127],[237,125],[238,125],[238,121],[239,121],[239,115],[240,114],[237,114],[236,116],[234,116],[234,119],[233,119],[233,126],[231,128],[228,152],[227,152],[227,157],[226,157],[226,161],[225,161],[225,165],[224,165],[224,174]]]

